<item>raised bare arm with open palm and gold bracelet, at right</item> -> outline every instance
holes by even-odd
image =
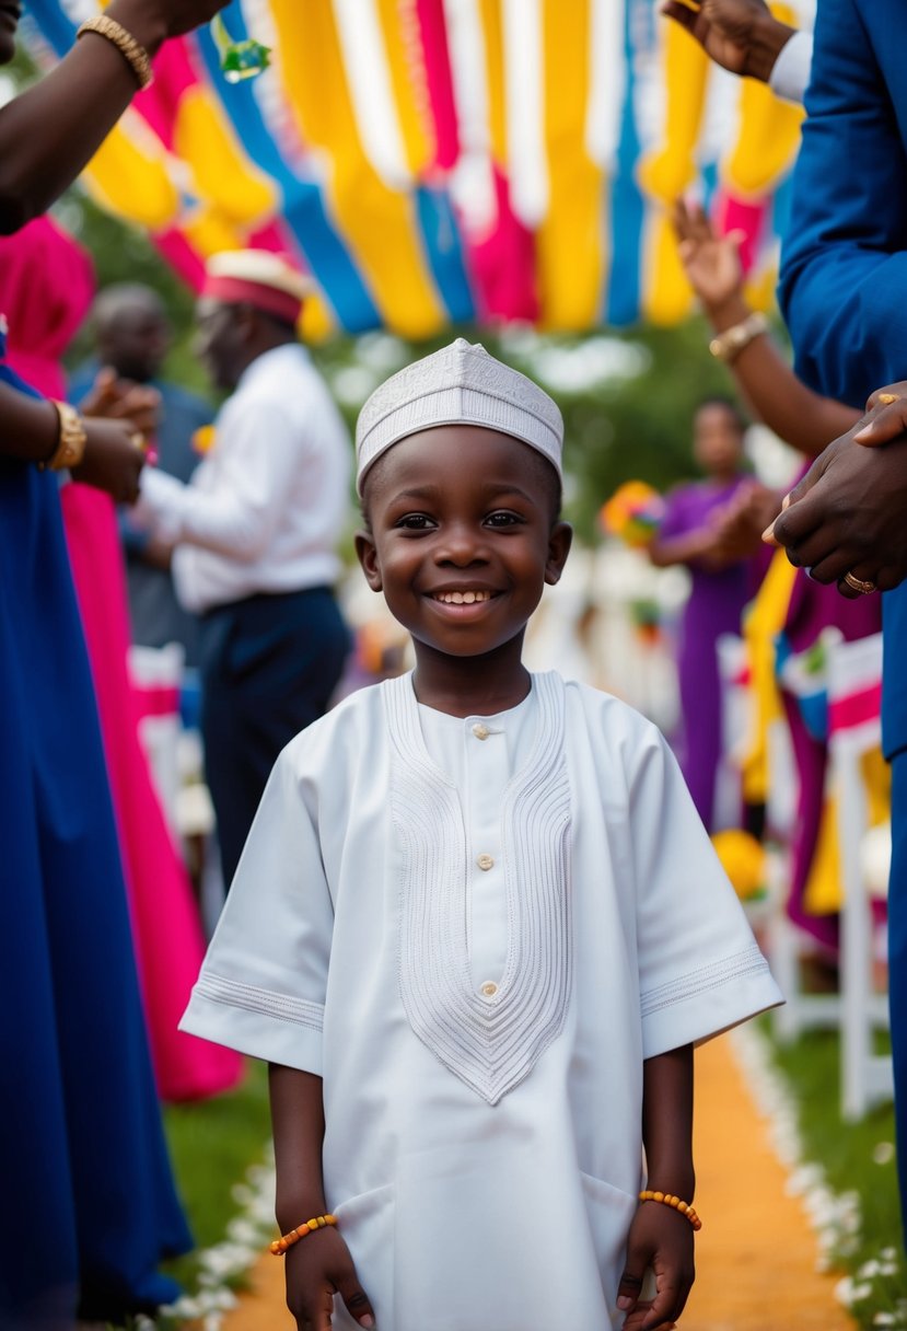
[[[723,333],[742,323],[751,310],[743,298],[739,237],[717,236],[702,208],[682,198],[674,204],[672,222],[684,272],[712,327]],[[807,389],[765,333],[754,337],[729,369],[753,414],[810,458],[859,419],[846,403]]]

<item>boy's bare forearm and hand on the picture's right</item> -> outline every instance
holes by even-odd
[[[642,1143],[648,1187],[693,1201],[693,1046],[646,1058],[642,1065]],[[657,1294],[638,1303],[652,1267]],[[694,1279],[693,1226],[680,1211],[642,1202],[630,1225],[617,1306],[628,1312],[626,1331],[654,1331],[676,1322]]]

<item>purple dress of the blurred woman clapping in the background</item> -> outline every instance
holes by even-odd
[[[666,499],[660,540],[686,536],[708,522],[709,514],[731,499],[750,478],[729,484],[710,480],[678,486]],[[684,607],[677,643],[681,732],[677,757],[700,817],[713,831],[715,773],[722,751],[721,680],[715,644],[722,634],[739,634],[741,615],[755,592],[757,560],[743,559],[726,568],[686,566],[693,586]]]

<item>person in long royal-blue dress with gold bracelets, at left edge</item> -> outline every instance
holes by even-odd
[[[0,232],[72,184],[168,37],[219,0],[112,0],[0,106]],[[0,20],[15,56],[19,5]],[[0,325],[0,357],[7,329]],[[128,418],[85,421],[0,363],[0,1326],[72,1331],[177,1292],[185,1251],[160,1119],[60,473],[138,492]]]

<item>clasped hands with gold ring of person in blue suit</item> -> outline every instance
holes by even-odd
[[[895,386],[896,387],[896,386]],[[880,390],[884,393],[886,390]],[[890,390],[894,391],[894,390]],[[803,479],[785,500],[785,511],[765,535],[783,546],[793,564],[806,567],[821,583],[838,583],[850,599],[860,595],[844,582],[858,582],[890,591],[907,578],[907,434],[899,415],[900,402],[882,402],[879,434],[886,447],[860,447],[864,419],[834,439],[819,454]],[[884,413],[892,415],[883,415]],[[900,433],[887,431],[900,422]],[[864,439],[866,443],[875,438]]]

